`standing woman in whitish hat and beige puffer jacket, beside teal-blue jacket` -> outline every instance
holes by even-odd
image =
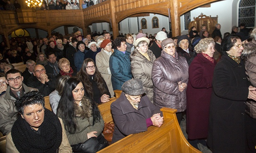
[[[151,78],[151,71],[156,57],[153,52],[149,50],[149,42],[149,39],[146,37],[138,38],[135,41],[136,48],[132,52],[130,59],[133,78],[142,81],[146,95],[149,97],[151,103],[153,103],[154,85]]]

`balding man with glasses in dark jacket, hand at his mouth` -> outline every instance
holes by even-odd
[[[55,79],[52,74],[46,74],[43,65],[36,65],[34,67],[34,76],[27,80],[27,86],[37,88],[39,92],[45,97],[55,90]]]

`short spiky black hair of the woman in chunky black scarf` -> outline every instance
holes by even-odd
[[[21,115],[23,115],[25,107],[35,104],[41,104],[44,108],[44,97],[39,93],[39,91],[30,91],[17,99],[15,102],[15,108]]]

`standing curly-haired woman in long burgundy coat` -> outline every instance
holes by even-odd
[[[215,42],[204,38],[195,46],[197,56],[189,67],[187,89],[187,133],[191,145],[206,145],[209,124],[212,77],[216,62],[213,58]]]

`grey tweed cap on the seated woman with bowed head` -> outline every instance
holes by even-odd
[[[130,79],[122,85],[122,90],[125,94],[131,95],[131,96],[139,96],[143,93],[146,93],[146,91],[143,89],[143,84],[140,79]]]

